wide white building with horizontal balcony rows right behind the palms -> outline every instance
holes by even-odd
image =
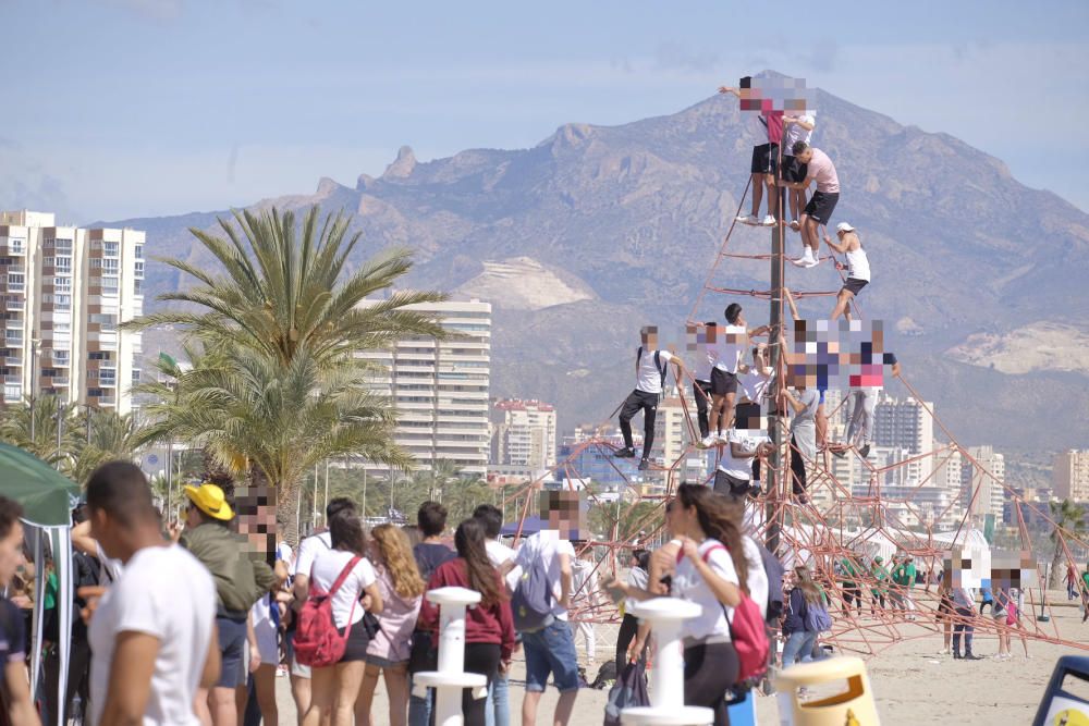
[[[368,303],[364,303],[367,305]],[[490,451],[491,305],[478,300],[430,303],[411,310],[433,315],[450,331],[397,341],[363,358],[384,367],[375,390],[397,409],[395,441],[428,471],[449,462],[463,476],[485,477]],[[368,469],[381,470],[377,465]]]

